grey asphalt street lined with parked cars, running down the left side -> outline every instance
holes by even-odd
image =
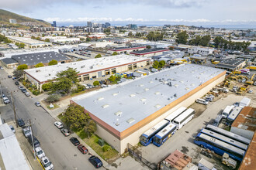
[[[95,169],[88,162],[89,155],[82,155],[78,149],[69,141],[70,137],[64,137],[61,131],[54,126],[54,118],[50,116],[42,107],[36,107],[36,100],[32,97],[26,97],[18,86],[14,84],[14,80],[7,78],[8,74],[5,70],[0,70],[0,80],[2,90],[5,96],[10,97],[13,93],[13,99],[16,107],[18,118],[24,121],[31,119],[33,121],[33,134],[38,138],[41,148],[54,164],[54,169]],[[13,121],[14,114],[11,104],[0,107],[2,119],[5,122]],[[101,168],[103,169],[103,168]]]

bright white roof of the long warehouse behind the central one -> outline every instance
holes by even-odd
[[[98,59],[87,59],[73,63],[58,64],[54,66],[43,66],[25,70],[25,72],[30,76],[33,76],[36,80],[43,82],[47,80],[54,80],[58,72],[67,70],[68,67],[76,69],[79,73],[88,73],[96,70],[107,70],[109,67],[118,67],[120,65],[134,62],[138,63],[145,59],[147,58],[121,54],[116,56],[106,56]]]

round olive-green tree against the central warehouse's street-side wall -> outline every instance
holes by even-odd
[[[81,130],[85,127],[86,122],[88,122],[91,117],[84,113],[84,107],[80,105],[70,104],[67,109],[64,110],[64,122],[66,122],[67,127],[75,130]]]

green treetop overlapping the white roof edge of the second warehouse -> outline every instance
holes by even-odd
[[[77,83],[78,82],[78,71],[73,68],[68,68],[67,70],[61,71],[57,73],[57,80],[61,80],[67,78],[71,80],[71,82]]]

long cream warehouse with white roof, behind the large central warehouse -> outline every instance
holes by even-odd
[[[58,64],[57,66],[43,66],[39,68],[24,70],[25,78],[41,91],[43,83],[48,83],[56,78],[58,72],[67,70],[68,67],[76,69],[78,80],[93,80],[98,77],[123,73],[148,66],[150,59],[142,59],[137,56],[116,55],[98,59],[87,59],[83,61]]]

